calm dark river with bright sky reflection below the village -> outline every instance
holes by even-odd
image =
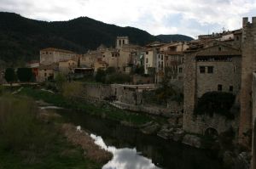
[[[56,110],[67,121],[79,125],[102,149],[113,153],[103,169],[221,169],[216,155],[209,150],[148,136],[115,121],[71,110]]]

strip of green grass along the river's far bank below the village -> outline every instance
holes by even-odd
[[[86,103],[81,99],[67,99],[60,93],[49,93],[38,88],[24,87],[20,94],[27,95],[36,100],[44,100],[49,104],[55,104],[68,109],[79,110],[90,115],[98,115],[114,121],[126,121],[133,126],[139,126],[149,121],[165,123],[166,120],[161,117],[133,113],[126,110],[119,110],[108,104],[94,105]]]

